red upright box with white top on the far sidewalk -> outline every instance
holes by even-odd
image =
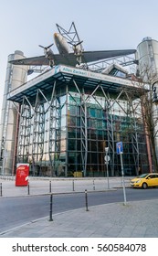
[[[28,185],[29,164],[18,164],[16,168],[16,187]]]

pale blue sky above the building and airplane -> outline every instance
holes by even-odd
[[[158,40],[158,1],[0,0],[0,111],[8,55],[43,55],[38,45],[52,43],[56,23],[72,21],[85,50],[136,48],[143,37]]]

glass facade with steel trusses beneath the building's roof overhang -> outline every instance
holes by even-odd
[[[115,176],[121,166],[115,143],[124,140],[125,152],[127,150],[124,157],[130,159],[127,161],[124,158],[124,161],[134,166],[137,174],[142,164],[140,159],[146,155],[142,124],[141,128],[138,127],[136,117],[139,104],[133,108],[133,101],[123,88],[111,94],[98,84],[95,89],[88,91],[75,79],[71,80],[71,84],[63,84],[63,87],[64,90],[59,93],[58,80],[55,80],[51,97],[39,89],[35,102],[30,102],[24,96],[20,113],[17,162],[30,163],[33,175],[68,176],[74,171],[80,171],[84,176],[105,176],[104,150],[108,146],[111,176]],[[122,102],[126,107],[122,106]],[[97,110],[102,117],[90,114]],[[73,116],[71,112],[74,111]],[[74,120],[77,121],[72,124]],[[94,133],[96,137],[93,137]],[[74,144],[69,146],[71,142]],[[143,144],[143,150],[140,144]],[[94,154],[98,155],[95,156],[96,165],[92,164]],[[147,165],[148,163],[146,167]]]

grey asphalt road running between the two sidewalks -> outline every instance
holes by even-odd
[[[158,197],[158,188],[132,189],[126,188],[128,201],[146,200]],[[123,190],[88,193],[88,205],[123,202]],[[0,198],[0,232],[12,229],[35,219],[47,217],[50,208],[50,196],[7,197]],[[73,193],[53,196],[53,214],[70,209],[84,208],[85,194]],[[73,218],[73,217],[72,217]]]

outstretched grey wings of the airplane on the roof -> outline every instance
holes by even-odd
[[[83,51],[81,55],[82,63],[89,63],[93,61],[98,61],[100,59],[110,59],[112,57],[119,57],[123,55],[129,55],[135,53],[135,49],[122,49],[122,50],[99,50],[99,51]],[[63,64],[76,66],[77,56],[74,55],[73,52],[61,55],[54,54],[53,55],[54,65]],[[26,59],[15,59],[9,61],[15,65],[27,65],[27,66],[41,66],[41,65],[49,65],[49,60],[43,56],[26,58]]]

